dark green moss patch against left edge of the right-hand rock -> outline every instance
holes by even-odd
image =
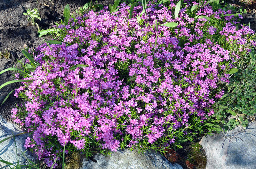
[[[188,160],[196,168],[205,168],[207,158],[202,146],[198,143],[192,143],[190,145],[190,151],[188,152]]]

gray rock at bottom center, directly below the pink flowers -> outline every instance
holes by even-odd
[[[117,151],[111,157],[96,154],[93,160],[83,161],[80,169],[182,169],[176,163],[170,163],[159,152],[147,151],[142,155],[138,151]]]

